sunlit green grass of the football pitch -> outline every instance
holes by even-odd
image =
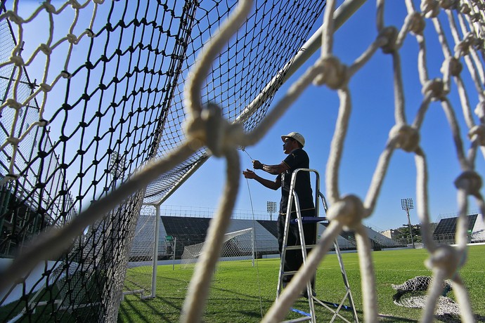
[[[466,265],[460,270],[472,301],[472,309],[479,322],[485,322],[485,245],[470,246]],[[358,254],[342,255],[349,284],[354,296],[359,321],[363,322],[361,275]],[[375,251],[373,261],[377,284],[381,322],[416,322],[421,310],[403,308],[392,301],[395,294],[391,284],[402,284],[416,276],[431,276],[425,268],[426,249]],[[259,259],[257,266],[250,261],[222,262],[214,275],[209,300],[202,318],[204,322],[259,322],[276,296],[279,259]],[[186,296],[193,270],[179,265],[159,266],[157,270],[157,297],[142,301],[129,295],[119,308],[118,322],[179,322],[180,311]],[[128,277],[141,274],[140,268],[128,271]],[[259,278],[259,279],[258,279]],[[339,303],[344,295],[344,284],[335,255],[325,257],[317,271],[316,293],[322,301]],[[454,298],[453,291],[448,294]],[[348,303],[346,303],[348,304]],[[295,303],[295,308],[308,311],[305,298]],[[261,313],[262,312],[262,313]],[[351,320],[351,312],[341,311]],[[321,305],[316,305],[318,322],[328,322],[332,315]],[[290,312],[287,319],[298,317]],[[337,320],[337,322],[339,322]]]

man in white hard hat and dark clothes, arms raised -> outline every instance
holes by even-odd
[[[309,169],[310,160],[308,154],[303,150],[305,145],[304,137],[297,132],[288,133],[286,136],[281,136],[283,140],[283,152],[287,157],[283,162],[277,165],[261,164],[258,160],[252,161],[254,169],[261,169],[267,173],[276,175],[276,180],[267,180],[261,178],[254,171],[246,169],[243,171],[245,178],[252,178],[258,183],[272,190],[278,190],[281,187],[280,211],[278,216],[278,246],[280,254],[283,250],[283,235],[285,232],[285,219],[287,212],[288,200],[290,199],[290,183],[292,173],[296,169]],[[297,173],[297,180],[295,184],[295,192],[299,198],[299,206],[302,211],[302,216],[315,216],[315,206],[313,204],[313,192],[310,184],[310,173]],[[291,218],[296,218],[295,204],[292,204]],[[304,224],[304,237],[306,245],[313,245],[316,243],[316,223]],[[288,231],[287,246],[299,245],[299,232],[297,225],[291,225]],[[308,251],[307,251],[308,252]],[[299,250],[288,250],[285,255],[285,266],[283,277],[283,286],[285,286],[293,277],[293,274],[299,269],[303,263],[302,252]],[[306,294],[306,289],[304,291]],[[312,294],[314,294],[312,282]],[[315,295],[313,295],[315,296]],[[306,297],[306,295],[305,295]]]

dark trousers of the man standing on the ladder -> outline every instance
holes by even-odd
[[[304,215],[304,216],[313,216],[311,215]],[[283,235],[285,234],[285,215],[278,216],[278,247],[281,251],[283,250]],[[292,217],[296,218],[296,216]],[[307,223],[303,225],[303,232],[305,237],[305,245],[315,244],[316,243],[316,223]],[[299,246],[299,232],[298,232],[298,224],[290,223],[290,228],[288,228],[288,239],[287,239],[287,246]],[[306,249],[306,253],[308,254],[311,249]],[[301,250],[287,250],[285,254],[285,265],[284,270],[285,272],[298,270],[300,266],[303,264],[303,257]],[[285,276],[283,278],[283,282],[290,282],[292,279],[292,275]]]

